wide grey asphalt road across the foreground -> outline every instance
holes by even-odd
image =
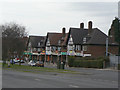
[[[74,68],[71,68],[74,69]],[[3,70],[3,88],[118,88],[118,72],[76,69],[82,74]]]

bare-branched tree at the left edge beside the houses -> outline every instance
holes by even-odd
[[[24,37],[28,35],[25,26],[7,23],[0,25],[0,30],[2,30],[2,58],[9,59],[15,54],[20,57],[25,50]]]

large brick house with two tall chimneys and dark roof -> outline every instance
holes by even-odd
[[[67,39],[67,54],[72,56],[105,56],[106,38],[100,29],[92,27],[92,21],[88,22],[88,28],[84,28],[84,23],[80,28],[70,28]]]

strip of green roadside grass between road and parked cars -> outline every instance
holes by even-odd
[[[12,69],[17,71],[23,72],[33,72],[33,73],[40,73],[40,72],[57,72],[57,73],[71,73],[71,74],[82,74],[77,71],[65,70],[65,69],[56,69],[56,68],[47,68],[47,67],[32,67],[32,66],[25,66],[25,65],[10,65],[10,67],[5,64],[3,69]]]

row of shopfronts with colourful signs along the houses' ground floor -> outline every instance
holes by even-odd
[[[57,63],[57,61],[63,61],[67,62],[68,56],[91,56],[90,54],[82,54],[82,53],[75,53],[75,52],[54,52],[54,53],[48,53],[45,51],[42,51],[41,53],[37,52],[24,52],[24,57],[28,58],[28,60],[40,60],[44,62],[51,62],[51,63]]]

